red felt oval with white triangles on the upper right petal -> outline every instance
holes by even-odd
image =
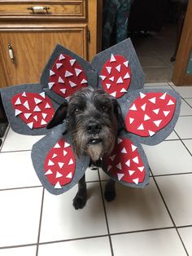
[[[103,90],[115,98],[120,98],[127,92],[131,82],[129,61],[122,55],[111,55],[111,59],[101,70]]]

